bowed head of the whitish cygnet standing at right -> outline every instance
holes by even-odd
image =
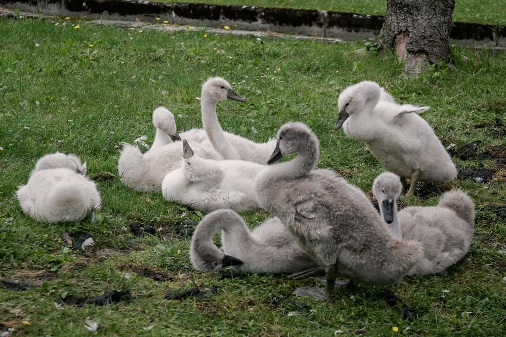
[[[362,81],[344,89],[338,98],[339,115],[334,130],[339,130],[348,117],[362,111],[366,105],[374,108],[380,94],[381,87],[372,81]]]

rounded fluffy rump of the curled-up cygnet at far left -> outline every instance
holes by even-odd
[[[46,209],[51,222],[79,221],[90,210],[90,205],[79,185],[61,183],[53,188],[46,199]]]

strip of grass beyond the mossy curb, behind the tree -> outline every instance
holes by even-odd
[[[177,3],[175,0],[154,0],[163,3]],[[258,7],[279,7],[293,9],[308,9],[319,11],[334,11],[345,13],[359,13],[369,15],[385,15],[387,2],[385,0],[361,1],[328,1],[328,0],[188,0],[185,3],[206,3],[216,5],[241,5]],[[453,12],[455,22],[475,22],[489,25],[506,25],[506,19],[499,8],[506,8],[506,0],[456,0]]]

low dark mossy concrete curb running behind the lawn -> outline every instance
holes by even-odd
[[[0,5],[45,15],[149,22],[160,18],[170,24],[347,40],[375,37],[384,22],[384,17],[377,15],[139,0],[0,0]],[[506,26],[454,22],[450,38],[457,44],[506,47]]]

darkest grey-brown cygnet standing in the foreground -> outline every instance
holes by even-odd
[[[326,295],[336,275],[373,285],[399,282],[423,253],[393,237],[363,192],[335,172],[314,170],[318,139],[303,123],[284,124],[269,164],[255,179],[261,206],[279,217],[302,250],[326,268]]]

